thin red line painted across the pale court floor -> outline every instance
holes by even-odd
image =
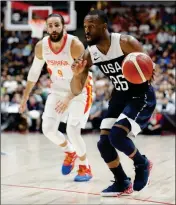
[[[21,188],[30,188],[30,189],[41,189],[41,190],[50,190],[50,191],[62,191],[62,192],[72,192],[77,194],[89,194],[89,195],[97,195],[100,196],[99,193],[91,193],[91,192],[82,192],[82,191],[73,191],[73,190],[66,190],[66,189],[56,189],[56,188],[46,188],[46,187],[35,187],[35,186],[25,186],[25,185],[17,185],[17,184],[1,184],[2,186],[10,186],[10,187],[21,187]],[[2,193],[2,192],[1,192]],[[148,199],[137,199],[137,198],[126,198],[129,200],[136,200],[136,201],[143,201],[143,202],[150,202],[150,203],[156,203],[156,204],[164,204],[164,205],[175,205],[168,202],[162,202],[162,201],[154,201],[154,200],[148,200]]]

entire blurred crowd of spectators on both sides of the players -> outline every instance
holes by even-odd
[[[111,4],[101,2],[96,5],[107,12],[110,30],[136,37],[152,60],[159,65],[153,83],[157,106],[148,127],[149,130],[154,130],[155,127],[158,128],[157,123],[162,125],[162,113],[175,114],[175,8],[115,7]],[[37,39],[31,38],[31,32],[7,31],[1,23],[1,118],[4,126],[1,126],[1,129],[10,126],[11,130],[24,130],[26,127],[31,131],[40,130],[41,114],[49,91],[46,65],[31,93],[27,112],[24,115],[18,114],[36,42]],[[95,84],[89,124],[96,130],[106,114],[112,84],[96,66],[93,66],[92,70]],[[21,123],[16,123],[17,118],[11,117],[13,115],[18,117]]]

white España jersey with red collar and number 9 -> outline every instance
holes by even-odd
[[[51,47],[49,36],[42,40],[43,59],[47,63],[47,70],[51,78],[51,93],[66,95],[70,92],[70,82],[73,77],[71,65],[74,60],[71,56],[71,43],[76,36],[65,34],[61,48],[55,52]]]

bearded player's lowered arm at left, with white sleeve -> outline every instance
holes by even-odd
[[[35,57],[28,73],[26,88],[23,92],[23,97],[19,108],[20,113],[25,111],[26,102],[28,101],[31,90],[39,79],[44,63],[45,61],[42,58],[42,41],[39,41],[35,46]]]

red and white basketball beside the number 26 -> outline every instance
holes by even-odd
[[[133,52],[123,60],[122,72],[130,83],[141,84],[151,79],[153,62],[147,54]]]

